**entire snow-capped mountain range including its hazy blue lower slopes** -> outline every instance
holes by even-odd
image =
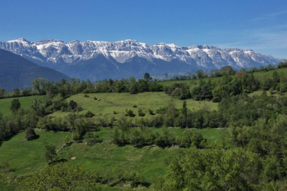
[[[0,42],[0,48],[73,78],[139,78],[143,73],[189,72],[198,69],[234,69],[278,64],[281,60],[252,50],[221,49],[217,46],[180,47],[175,44],[148,44],[127,39],[119,42],[62,42],[48,39],[29,42],[24,38]]]

